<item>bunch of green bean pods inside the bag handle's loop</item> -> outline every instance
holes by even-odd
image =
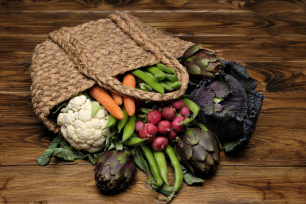
[[[173,68],[158,63],[132,70],[131,73],[138,79],[137,87],[144,91],[156,91],[161,94],[178,89],[181,82]]]

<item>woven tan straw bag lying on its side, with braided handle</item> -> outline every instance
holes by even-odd
[[[50,110],[95,83],[136,99],[178,98],[189,78],[176,58],[192,44],[162,34],[126,13],[54,30],[33,51],[30,66],[33,109],[48,129],[59,132]],[[180,89],[161,95],[131,88],[112,77],[159,62],[174,68],[182,83]]]

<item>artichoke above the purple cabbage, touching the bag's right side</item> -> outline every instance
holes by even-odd
[[[201,44],[188,47],[181,58],[182,65],[189,75],[197,78],[213,78],[222,71],[223,64],[216,54],[208,49],[201,49]]]

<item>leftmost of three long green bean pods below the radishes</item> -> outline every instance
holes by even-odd
[[[159,174],[159,170],[158,170],[158,166],[155,162],[155,158],[154,158],[154,155],[151,151],[151,149],[145,144],[145,143],[140,143],[140,148],[150,166],[150,169],[151,169],[151,172],[156,180],[155,182],[155,185],[157,187],[160,187],[162,185],[162,179],[160,177],[160,174]]]

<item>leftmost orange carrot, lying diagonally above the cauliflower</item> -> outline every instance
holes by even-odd
[[[112,99],[106,90],[98,85],[92,86],[89,89],[91,97],[96,99],[105,109],[117,119],[123,119],[123,111],[119,105]]]

